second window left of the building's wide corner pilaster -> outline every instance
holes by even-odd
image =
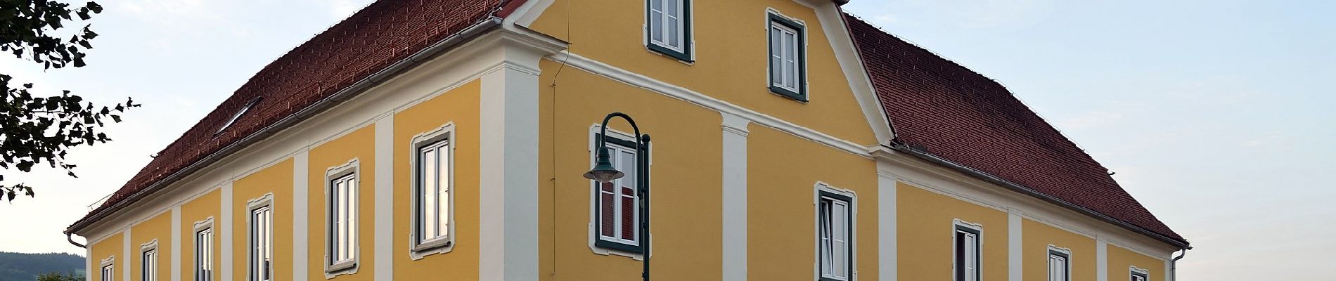
[[[326,270],[346,269],[357,264],[357,174],[355,162],[335,168],[329,186],[329,230],[326,232]]]

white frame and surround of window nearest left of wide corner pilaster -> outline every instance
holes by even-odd
[[[417,136],[413,136],[413,139],[409,142],[409,148],[411,148],[411,149],[409,149],[409,161],[410,161],[410,165],[413,166],[413,169],[411,169],[411,173],[413,173],[413,182],[411,182],[413,184],[413,188],[411,188],[411,193],[413,193],[411,194],[411,197],[413,197],[413,205],[411,205],[413,225],[411,225],[411,228],[413,229],[411,229],[411,233],[409,234],[409,253],[410,253],[410,257],[413,260],[420,260],[420,258],[424,258],[424,257],[430,256],[430,254],[449,253],[450,250],[454,249],[454,237],[456,237],[456,234],[454,234],[454,229],[456,229],[456,222],[454,222],[454,213],[456,213],[454,212],[454,197],[456,197],[454,196],[454,189],[456,189],[456,185],[454,185],[454,154],[456,154],[456,152],[454,152],[454,148],[456,148],[456,145],[454,145],[454,137],[456,137],[454,123],[446,123],[445,125],[441,125],[441,127],[438,127],[436,129],[432,129],[432,131],[428,131],[428,132],[424,132],[424,133],[418,133]],[[425,148],[432,148],[437,153],[441,153],[441,152],[446,153],[446,157],[442,158],[444,161],[446,161],[445,162],[445,168],[446,168],[445,169],[446,170],[445,172],[446,173],[445,177],[446,178],[444,181],[438,182],[438,185],[444,185],[442,188],[445,189],[444,192],[445,192],[445,197],[446,198],[445,198],[444,204],[446,206],[444,208],[444,212],[446,214],[444,216],[444,218],[438,213],[434,214],[434,217],[438,218],[437,221],[434,221],[434,225],[444,225],[444,230],[438,236],[436,236],[436,237],[422,237],[424,236],[422,234],[424,233],[424,228],[428,224],[428,221],[426,221],[428,216],[426,216],[425,209],[424,209],[424,204],[425,204],[424,198],[425,197],[422,196],[424,188],[425,188],[422,185],[424,176],[425,176],[424,170],[422,170],[422,169],[425,169],[424,162],[422,162],[422,153],[424,153],[422,150]],[[440,178],[440,176],[436,177],[436,178]],[[441,190],[437,189],[436,192],[441,192]],[[437,204],[441,204],[440,198],[438,198]]]

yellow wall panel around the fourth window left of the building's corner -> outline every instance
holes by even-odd
[[[214,218],[214,261],[223,260],[222,256],[222,234],[219,233],[218,225],[222,222],[220,192],[214,189],[204,193],[194,200],[187,201],[180,205],[180,277],[184,280],[195,278],[195,222],[203,221],[208,217]],[[218,280],[222,274],[218,272],[222,268],[218,262],[214,262],[214,278]]]

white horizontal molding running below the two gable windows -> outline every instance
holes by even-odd
[[[704,93],[699,93],[699,92],[695,92],[695,91],[691,91],[691,89],[687,89],[687,88],[681,88],[681,87],[677,87],[677,85],[673,85],[673,84],[668,84],[668,83],[656,80],[656,79],[651,79],[651,77],[640,75],[640,73],[635,73],[635,72],[631,72],[631,71],[627,71],[627,69],[612,67],[612,65],[608,65],[608,64],[605,64],[603,61],[588,59],[588,57],[584,57],[584,56],[580,56],[580,55],[574,55],[574,53],[570,53],[570,52],[566,52],[566,51],[557,52],[557,53],[549,56],[549,59],[552,59],[554,61],[565,61],[565,64],[569,65],[569,67],[578,68],[581,71],[587,71],[587,72],[591,72],[591,73],[595,73],[595,75],[600,75],[600,76],[604,76],[604,77],[608,77],[608,79],[612,79],[612,80],[616,80],[616,81],[620,81],[620,83],[625,83],[625,84],[635,85],[635,87],[640,87],[640,88],[644,88],[644,89],[648,89],[648,91],[652,91],[652,92],[657,92],[657,93],[661,93],[661,95],[665,95],[665,96],[669,96],[669,97],[673,97],[673,99],[684,100],[687,103],[692,103],[692,104],[696,104],[696,105],[700,105],[700,107],[704,107],[704,108],[709,108],[709,109],[713,109],[713,111],[717,111],[717,112],[723,112],[723,113],[739,116],[741,119],[751,120],[752,123],[755,123],[758,125],[764,125],[764,127],[768,127],[768,128],[774,128],[774,129],[778,129],[780,132],[786,132],[786,133],[790,133],[790,135],[794,135],[794,136],[798,136],[798,137],[802,137],[802,139],[806,139],[806,140],[810,140],[810,141],[815,141],[815,142],[824,144],[824,145],[835,148],[835,149],[840,149],[840,150],[848,152],[851,154],[856,154],[856,156],[862,156],[862,157],[868,157],[868,158],[871,157],[871,154],[868,154],[867,148],[864,145],[859,145],[859,144],[852,142],[852,141],[847,141],[847,140],[843,140],[843,139],[839,139],[839,137],[835,137],[835,136],[831,136],[831,135],[826,135],[823,132],[819,132],[819,131],[815,131],[815,129],[811,129],[811,128],[807,128],[807,127],[800,127],[800,125],[790,123],[787,120],[778,119],[778,117],[774,117],[774,116],[768,116],[768,115],[764,115],[764,113],[760,113],[760,112],[756,112],[756,111],[752,111],[752,109],[747,109],[747,108],[739,107],[736,104],[731,104],[731,103],[727,103],[727,101],[723,101],[723,100],[707,96]]]

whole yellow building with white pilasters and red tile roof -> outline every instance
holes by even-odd
[[[840,4],[381,0],[67,233],[98,281],[1172,280],[1089,154]]]

